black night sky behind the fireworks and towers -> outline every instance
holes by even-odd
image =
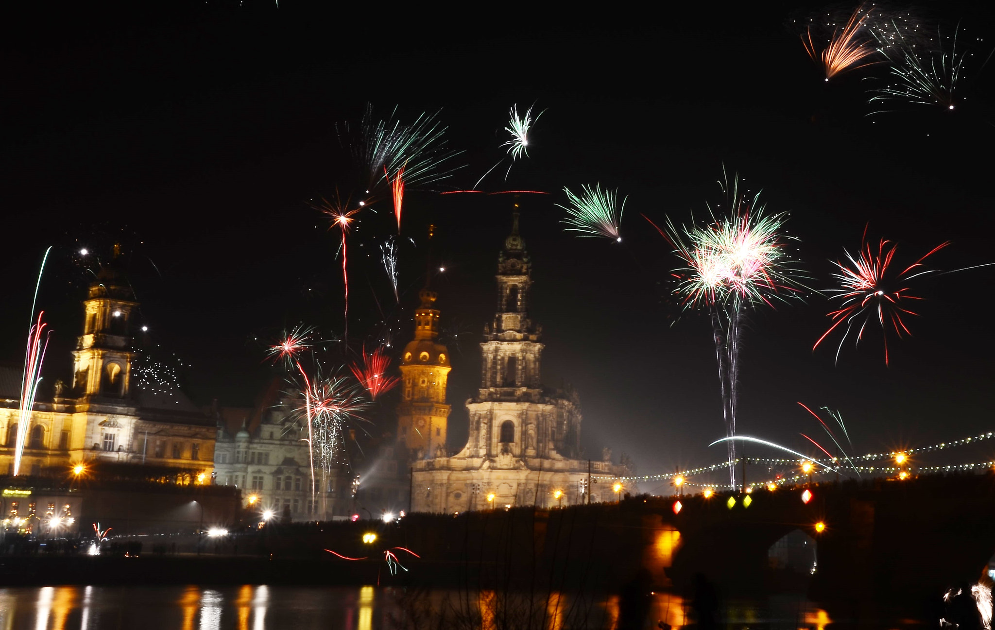
[[[995,262],[995,67],[979,71],[991,48],[976,43],[995,42],[995,20],[970,5],[918,10],[945,29],[960,20],[973,46],[962,106],[868,117],[864,80],[885,71],[827,84],[791,29],[820,4],[652,19],[518,17],[504,5],[487,19],[346,17],[239,4],[131,14],[86,6],[0,27],[0,361],[22,360],[52,245],[39,299],[55,330],[44,373],[69,377],[88,282],[76,253],[119,241],[150,326],[145,343],[186,364],[183,388],[196,402],[252,404],[274,373],[265,342],[282,328],[342,332],[338,234],[309,204],[336,189],[362,193],[335,125],[357,121],[367,102],[383,115],[397,105],[402,121],[441,109],[449,147],[465,151],[451,178],[406,193],[402,236],[414,244],[401,251],[400,307],[375,260],[391,233],[389,198],[360,215],[349,241],[350,342],[374,343],[386,320],[403,345],[425,280],[426,226],[437,226],[433,267],[446,271],[432,282],[453,355],[454,449],[466,440],[463,401],[479,384],[477,343],[494,313],[513,199],[438,193],[472,187],[500,159],[513,104],[543,111],[529,156],[506,182],[498,167],[480,187],[552,193],[519,200],[531,316],[543,326],[544,380],[579,391],[595,459],[609,446],[651,474],[722,458],[724,449],[707,448],[724,435],[709,322],[671,297],[679,261],[640,215],[700,216],[720,199],[723,164],[762,188],[771,211],[791,213],[815,289],[831,287],[830,261],[856,249],[866,225],[896,240],[902,261],[950,240],[934,267]],[[559,224],[563,186],[594,182],[628,195],[622,244]],[[838,365],[835,345],[813,352],[831,306],[820,295],[750,312],[740,431],[811,451],[799,432],[820,429],[797,401],[839,409],[858,453],[991,430],[993,274],[917,282],[914,295],[927,301],[914,336],[891,339],[891,366],[878,330],[844,348]]]

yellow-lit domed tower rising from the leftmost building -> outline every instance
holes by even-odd
[[[97,280],[84,301],[84,328],[73,350],[73,392],[83,398],[127,398],[131,384],[129,324],[138,306],[134,292],[117,269],[120,246],[100,266]]]

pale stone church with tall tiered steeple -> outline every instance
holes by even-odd
[[[452,457],[414,462],[415,512],[579,504],[588,501],[589,482],[590,501],[615,498],[624,469],[581,459],[576,393],[541,384],[542,328],[528,316],[531,271],[515,213],[497,260],[497,313],[481,343],[481,387],[467,402],[470,438]]]

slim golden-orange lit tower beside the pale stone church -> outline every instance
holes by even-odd
[[[429,238],[432,238],[430,227]],[[438,294],[429,288],[418,293],[422,304],[415,311],[415,338],[401,354],[401,403],[397,406],[397,440],[401,448],[421,451],[423,456],[445,454],[449,412],[446,378],[452,369],[449,350],[438,342],[439,311],[434,308]],[[413,453],[417,455],[417,453]]]

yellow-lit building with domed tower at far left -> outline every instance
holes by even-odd
[[[115,248],[114,262],[118,256]],[[136,384],[138,304],[113,264],[100,269],[83,307],[72,386],[58,381],[51,399],[36,399],[20,474],[63,476],[75,464],[101,460],[175,468],[210,483],[215,421],[178,389]],[[20,381],[20,372],[0,373],[0,474],[14,471]]]

